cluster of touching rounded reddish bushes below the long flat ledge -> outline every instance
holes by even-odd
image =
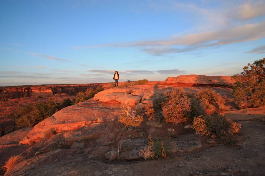
[[[152,102],[145,106],[145,114],[149,119],[174,124],[192,121],[194,117],[205,115],[206,111],[213,113],[224,110],[224,99],[212,89],[201,90],[196,94],[183,88],[173,89],[155,94]]]

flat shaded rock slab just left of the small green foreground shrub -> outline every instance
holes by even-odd
[[[122,150],[124,150],[124,149],[133,149],[135,147],[140,147],[147,144],[148,140],[144,138],[123,139],[117,143],[117,147],[121,147]]]

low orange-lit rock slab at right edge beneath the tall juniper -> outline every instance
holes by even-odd
[[[246,108],[237,111],[229,111],[224,115],[233,121],[246,121],[265,118],[265,108]]]

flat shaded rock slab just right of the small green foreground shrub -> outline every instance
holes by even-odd
[[[192,152],[201,148],[201,140],[194,134],[184,135],[181,138],[176,138],[169,143],[170,152]]]

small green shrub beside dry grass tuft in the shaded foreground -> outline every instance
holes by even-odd
[[[168,145],[167,143],[164,143],[163,140],[161,139],[155,139],[153,140],[151,136],[149,136],[149,146],[151,148],[151,155],[150,157],[152,159],[162,159],[162,158],[168,158],[167,153],[168,153]]]

